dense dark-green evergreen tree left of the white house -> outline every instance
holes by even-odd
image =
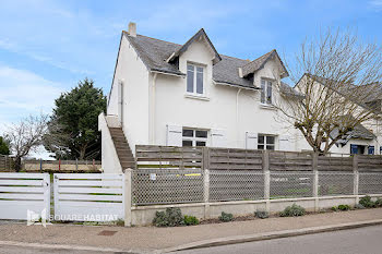
[[[106,96],[94,87],[92,80],[83,80],[71,92],[56,99],[53,114],[44,136],[47,150],[56,158],[100,159],[98,114],[106,111]]]

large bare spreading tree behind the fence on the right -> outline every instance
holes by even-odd
[[[327,154],[381,113],[381,52],[379,45],[360,41],[351,31],[327,29],[301,44],[294,65],[287,65],[299,94],[284,93],[275,105],[314,152]],[[283,88],[280,81],[278,85]]]

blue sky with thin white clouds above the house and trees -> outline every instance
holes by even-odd
[[[204,27],[218,52],[252,60],[273,48],[288,59],[327,26],[382,43],[382,0],[1,0],[0,134],[22,117],[49,113],[86,76],[108,93],[129,21],[139,34],[178,44]]]

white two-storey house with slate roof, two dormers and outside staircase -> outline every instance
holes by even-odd
[[[178,45],[130,23],[99,116],[104,170],[130,167],[135,145],[310,149],[273,106],[298,94],[282,82],[287,76],[276,50],[243,60],[219,55],[204,29]]]

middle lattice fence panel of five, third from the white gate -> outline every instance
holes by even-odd
[[[270,197],[310,197],[313,196],[312,172],[271,172]]]

